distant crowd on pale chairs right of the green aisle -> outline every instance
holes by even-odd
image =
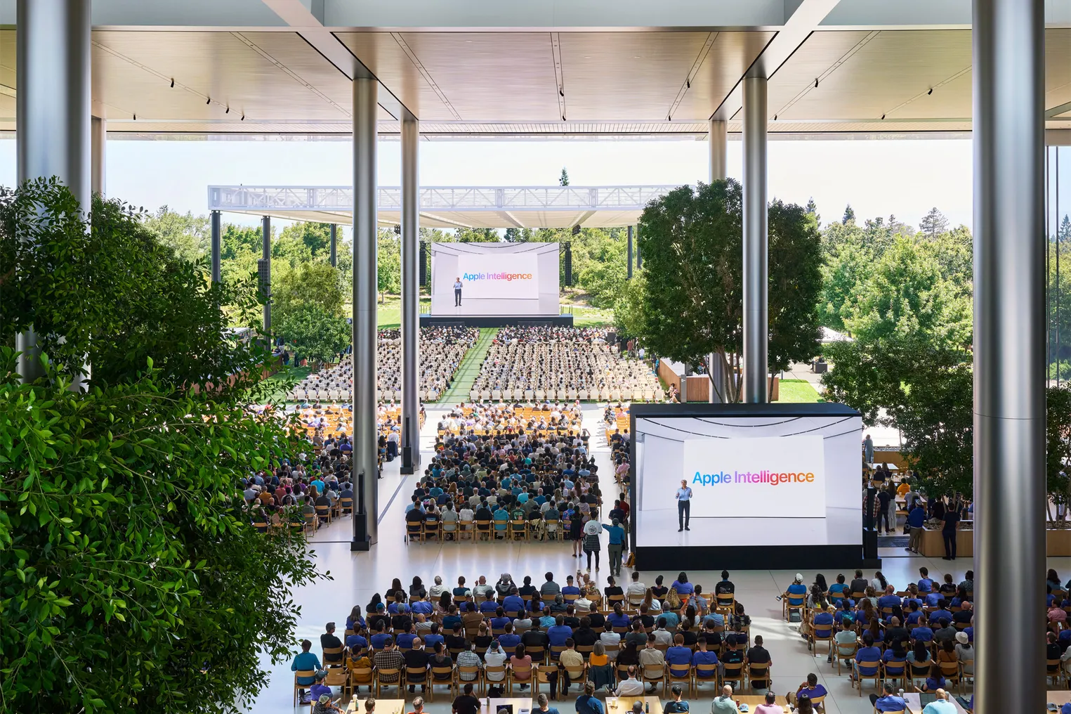
[[[622,358],[607,330],[579,327],[503,327],[470,397],[526,402],[662,400],[658,376],[643,361]]]

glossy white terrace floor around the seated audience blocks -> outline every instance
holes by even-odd
[[[434,443],[435,425],[441,410],[428,408],[427,422],[422,434],[421,446],[425,453]],[[609,452],[602,436],[599,423],[601,410],[597,405],[584,407],[585,426],[591,431],[591,445],[603,474],[601,484],[604,493],[613,493],[609,477]],[[340,629],[353,605],[360,605],[362,610],[371,599],[372,594],[382,593],[393,578],[399,578],[408,585],[412,576],[419,575],[423,581],[431,584],[434,576],[440,575],[444,583],[453,583],[458,576],[465,576],[469,582],[480,575],[487,576],[493,582],[500,572],[510,572],[516,582],[525,575],[531,575],[534,582],[542,581],[542,574],[550,570],[556,580],[562,582],[570,572],[575,572],[578,561],[571,555],[571,548],[565,544],[545,542],[447,542],[447,544],[412,544],[403,541],[404,510],[412,493],[413,476],[403,477],[398,474],[399,460],[387,464],[383,479],[379,481],[379,542],[371,552],[353,553],[349,550],[351,523],[349,518],[343,518],[328,527],[321,529],[313,538],[311,546],[315,551],[314,567],[319,570],[330,570],[332,580],[320,582],[314,587],[301,589],[296,593],[295,600],[301,605],[301,616],[298,626],[298,639],[307,638],[313,641],[313,651],[319,653],[319,635],[328,621],[338,623]],[[951,571],[959,582],[965,570],[972,568],[970,559],[960,559],[954,564],[940,559],[931,560],[919,556],[904,557],[903,550],[883,549],[885,557],[883,572],[897,587],[909,581],[918,580],[918,568],[926,566],[931,575],[940,577]],[[603,549],[605,557],[605,547]],[[951,570],[949,569],[949,566]],[[1055,567],[1067,576],[1071,571],[1071,559],[1050,559],[1050,567]],[[711,589],[721,571],[718,563],[696,563],[689,570],[689,579]],[[603,564],[598,572],[600,585],[605,585],[605,577],[609,570]],[[676,572],[643,572],[644,582],[650,584],[658,575],[666,576],[670,582]],[[731,579],[737,586],[737,599],[742,601],[752,618],[752,635],[761,635],[772,657],[773,690],[783,694],[795,691],[800,682],[806,679],[809,672],[817,673],[830,691],[826,699],[826,711],[829,714],[871,714],[874,710],[869,698],[860,697],[848,684],[847,674],[838,676],[835,668],[826,664],[825,652],[820,656],[808,652],[806,643],[799,637],[798,625],[789,625],[781,616],[781,603],[778,595],[784,592],[795,574],[790,570],[748,570],[735,571]],[[814,572],[804,571],[804,581],[810,583]],[[836,572],[825,572],[829,582],[834,582]],[[850,572],[846,571],[850,578]],[[873,574],[868,572],[868,577]],[[1042,574],[1039,574],[1041,578]],[[622,571],[623,580],[631,578],[628,568]],[[298,648],[295,648],[295,652]],[[270,670],[270,681],[257,698],[247,705],[246,711],[256,714],[291,713],[293,676],[290,663],[272,666],[266,663]],[[873,685],[868,685],[868,687]],[[869,694],[870,688],[865,689]],[[428,714],[447,714],[450,712],[450,696],[444,689],[439,690],[433,704],[425,708]],[[392,691],[393,694],[393,691]],[[746,694],[746,693],[744,693]],[[367,696],[362,694],[362,696]],[[573,711],[572,700],[559,702],[562,714]],[[411,699],[410,699],[411,701]],[[783,701],[783,700],[781,700]],[[692,702],[693,712],[709,709],[709,695],[702,700]],[[307,710],[305,710],[307,711]]]

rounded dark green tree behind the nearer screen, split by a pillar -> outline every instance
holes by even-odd
[[[774,200],[769,210],[769,368],[776,371],[818,351],[821,238],[801,207]],[[663,357],[695,365],[716,354],[725,378],[713,387],[730,402],[740,398],[730,360],[742,351],[742,215],[733,179],[651,202],[639,222],[643,296],[628,295],[643,315],[623,319]]]

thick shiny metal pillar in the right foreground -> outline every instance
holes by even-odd
[[[975,711],[1042,711],[1044,2],[974,0]],[[990,518],[993,516],[993,518]]]

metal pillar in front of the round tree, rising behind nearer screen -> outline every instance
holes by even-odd
[[[743,399],[767,401],[766,77],[743,80]]]

